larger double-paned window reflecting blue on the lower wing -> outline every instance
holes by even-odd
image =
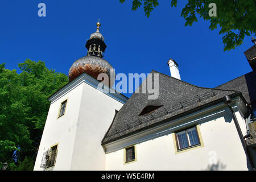
[[[199,145],[200,141],[196,127],[177,132],[176,142],[178,150]]]

